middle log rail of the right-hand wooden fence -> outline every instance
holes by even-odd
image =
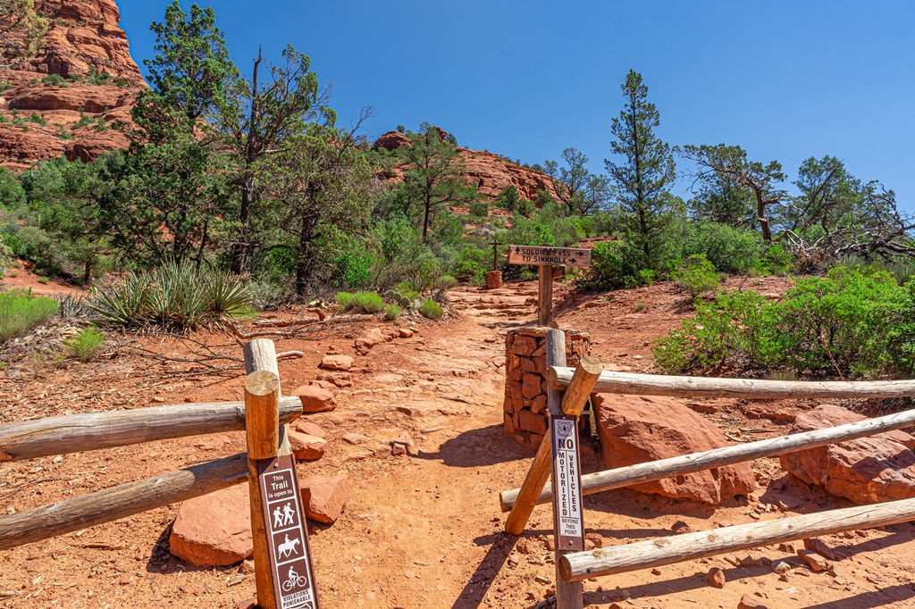
[[[837,442],[846,442],[856,438],[865,438],[877,433],[889,432],[915,424],[915,410],[896,412],[876,419],[867,419],[835,427],[813,430],[812,432],[792,433],[778,438],[759,440],[746,444],[736,444],[723,448],[714,448],[702,453],[684,454],[682,456],[660,459],[608,469],[595,474],[581,476],[582,494],[593,495],[614,488],[632,486],[642,482],[651,482],[674,475],[694,474],[713,467],[734,465],[764,457],[818,448]],[[510,511],[518,500],[520,488],[502,491],[500,494],[503,512]],[[536,504],[550,503],[553,500],[553,489],[546,485],[536,498]]]

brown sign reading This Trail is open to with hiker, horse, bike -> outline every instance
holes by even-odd
[[[291,454],[257,461],[276,609],[318,609],[308,527]]]

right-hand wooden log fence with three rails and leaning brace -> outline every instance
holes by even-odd
[[[647,374],[605,372],[596,358],[582,358],[576,369],[565,367],[565,335],[552,330],[546,337],[548,408],[551,419],[577,417],[587,405],[592,392],[627,395],[677,397],[739,397],[746,399],[813,399],[813,398],[899,398],[915,396],[915,380],[860,382],[802,382],[780,380],[704,379]],[[562,491],[565,508],[577,505],[581,496],[613,488],[632,486],[652,480],[693,474],[715,467],[733,465],[809,450],[831,443],[864,438],[915,425],[915,411],[867,419],[806,433],[795,433],[759,442],[737,444],[703,453],[684,454],[638,465],[629,465],[596,474],[572,473],[571,484]],[[575,435],[577,424],[565,429]],[[554,424],[550,430],[557,429]],[[503,512],[509,512],[505,530],[521,535],[535,505],[554,505],[554,540],[556,569],[556,607],[579,609],[583,605],[582,582],[588,578],[631,572],[676,562],[716,556],[731,551],[749,550],[773,543],[802,540],[846,530],[867,529],[915,520],[915,498],[889,501],[871,506],[843,508],[817,514],[754,522],[736,527],[700,531],[646,540],[598,550],[583,549],[580,543],[566,540],[569,510],[557,509],[557,483],[546,486],[551,477],[551,455],[557,458],[557,443],[548,432],[520,488],[500,493]],[[577,445],[577,439],[573,443]],[[556,477],[553,467],[553,478]],[[566,472],[567,473],[567,472]],[[562,474],[561,474],[562,475]],[[576,483],[577,482],[577,483]],[[577,497],[571,497],[569,495]],[[574,511],[574,510],[572,510]],[[562,512],[562,513],[561,513]],[[579,511],[580,513],[580,511]],[[573,514],[574,516],[574,514]],[[565,530],[564,530],[565,528]],[[565,534],[564,534],[565,533]],[[581,530],[583,533],[583,530]],[[574,545],[582,550],[569,550]]]

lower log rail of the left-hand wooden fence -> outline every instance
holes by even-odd
[[[0,516],[0,550],[207,495],[248,479],[247,454]]]

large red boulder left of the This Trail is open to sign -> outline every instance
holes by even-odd
[[[254,554],[248,485],[189,499],[178,508],[170,551],[198,567],[234,564]]]

